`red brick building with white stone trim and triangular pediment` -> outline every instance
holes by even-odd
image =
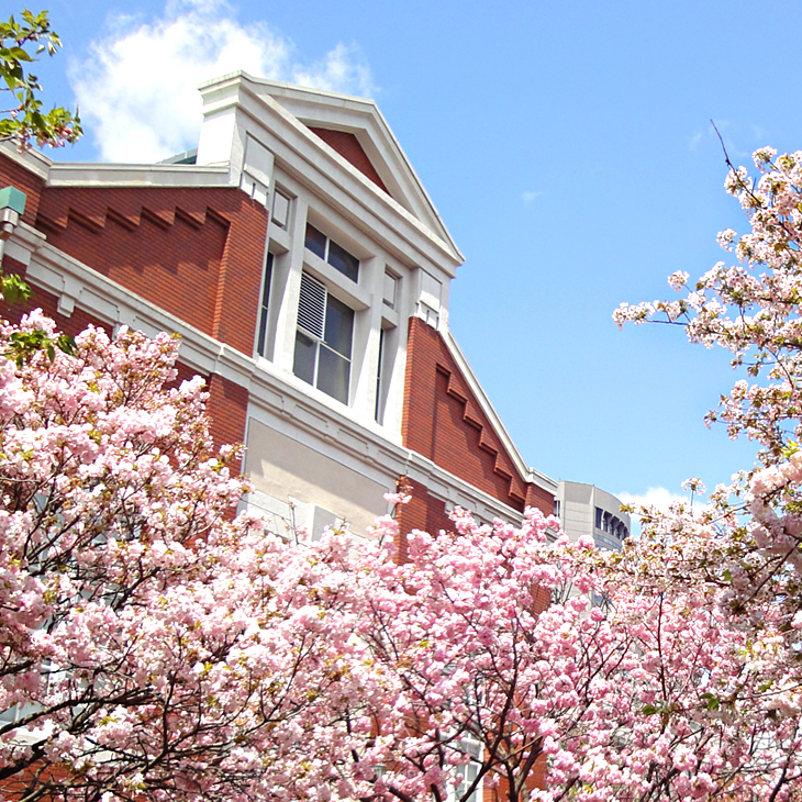
[[[157,165],[0,152],[25,196],[3,269],[64,331],[177,332],[248,505],[279,532],[361,534],[406,477],[401,527],[549,514],[448,326],[463,257],[372,101],[236,73],[200,88],[196,152]],[[18,309],[19,314],[23,309]],[[403,544],[401,544],[403,547]]]

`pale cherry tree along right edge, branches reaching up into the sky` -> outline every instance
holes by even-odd
[[[794,757],[802,712],[802,153],[761,148],[754,161],[756,176],[727,159],[726,190],[749,223],[742,235],[720,234],[734,264],[720,261],[695,285],[676,272],[669,282],[683,293],[679,300],[622,304],[615,319],[681,325],[691,342],[726,348],[733,366],[745,370],[709,421],[757,443],[758,464],[716,488],[700,513],[682,506],[647,513],[646,541],[677,558],[642,569],[722,589],[711,612],[739,624],[746,639],[737,681],[711,704],[725,703],[729,717],[744,719],[748,710],[753,720],[772,723],[782,748],[767,798],[795,799],[802,782]],[[751,679],[743,683],[744,677]]]

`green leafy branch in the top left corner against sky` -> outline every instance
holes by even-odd
[[[47,11],[34,14],[25,9],[21,18],[20,22],[13,15],[0,22],[0,91],[11,98],[3,110],[9,116],[0,119],[0,142],[15,140],[21,151],[31,146],[31,140],[40,146],[71,144],[81,135],[77,112],[63,107],[43,111],[37,97],[42,87],[36,76],[26,71],[26,65],[41,53],[56,53],[62,46],[58,34],[51,29]]]

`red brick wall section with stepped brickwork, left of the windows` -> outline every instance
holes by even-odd
[[[236,188],[47,187],[36,227],[133,293],[250,355],[267,212]]]

